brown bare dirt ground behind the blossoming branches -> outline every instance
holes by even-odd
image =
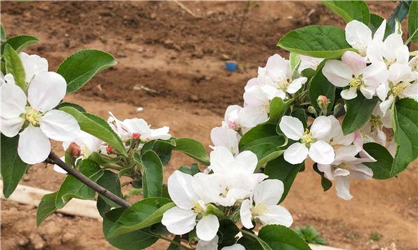
[[[396,3],[369,3],[389,17]],[[169,125],[176,137],[210,144],[227,106],[242,103],[243,87],[293,28],[343,22],[317,2],[1,2],[8,35],[40,38],[28,51],[49,60],[55,70],[70,53],[84,48],[108,51],[118,65],[95,76],[66,97],[88,112],[107,117],[143,117]],[[242,33],[238,37],[240,24]],[[226,72],[226,60],[238,60]],[[137,112],[138,107],[144,111]],[[62,152],[59,144],[54,148]],[[209,148],[208,148],[209,150]],[[165,177],[192,160],[175,153]],[[65,176],[51,166],[34,165],[22,184],[56,190]],[[298,175],[284,206],[295,226],[314,225],[330,245],[346,249],[418,249],[418,165],[389,181],[353,181],[351,201],[323,193],[311,167]],[[2,249],[113,249],[101,222],[56,213],[39,228],[36,208],[1,203]],[[382,235],[373,242],[371,235]],[[165,243],[150,249],[166,249]],[[392,246],[392,248],[390,248]],[[394,246],[396,246],[394,248]]]

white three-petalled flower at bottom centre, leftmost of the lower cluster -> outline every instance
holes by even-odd
[[[162,224],[167,226],[170,233],[183,235],[192,231],[196,226],[197,237],[210,241],[215,238],[219,228],[219,221],[215,215],[206,214],[207,201],[201,199],[193,185],[193,176],[176,170],[167,183],[171,199],[176,206],[167,210],[162,216]],[[199,216],[199,218],[198,218]],[[196,218],[198,222],[196,224]]]

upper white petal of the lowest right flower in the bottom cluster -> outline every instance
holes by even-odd
[[[265,203],[267,205],[276,205],[284,192],[283,182],[280,180],[265,180],[258,183],[254,190],[254,201],[256,204]]]

